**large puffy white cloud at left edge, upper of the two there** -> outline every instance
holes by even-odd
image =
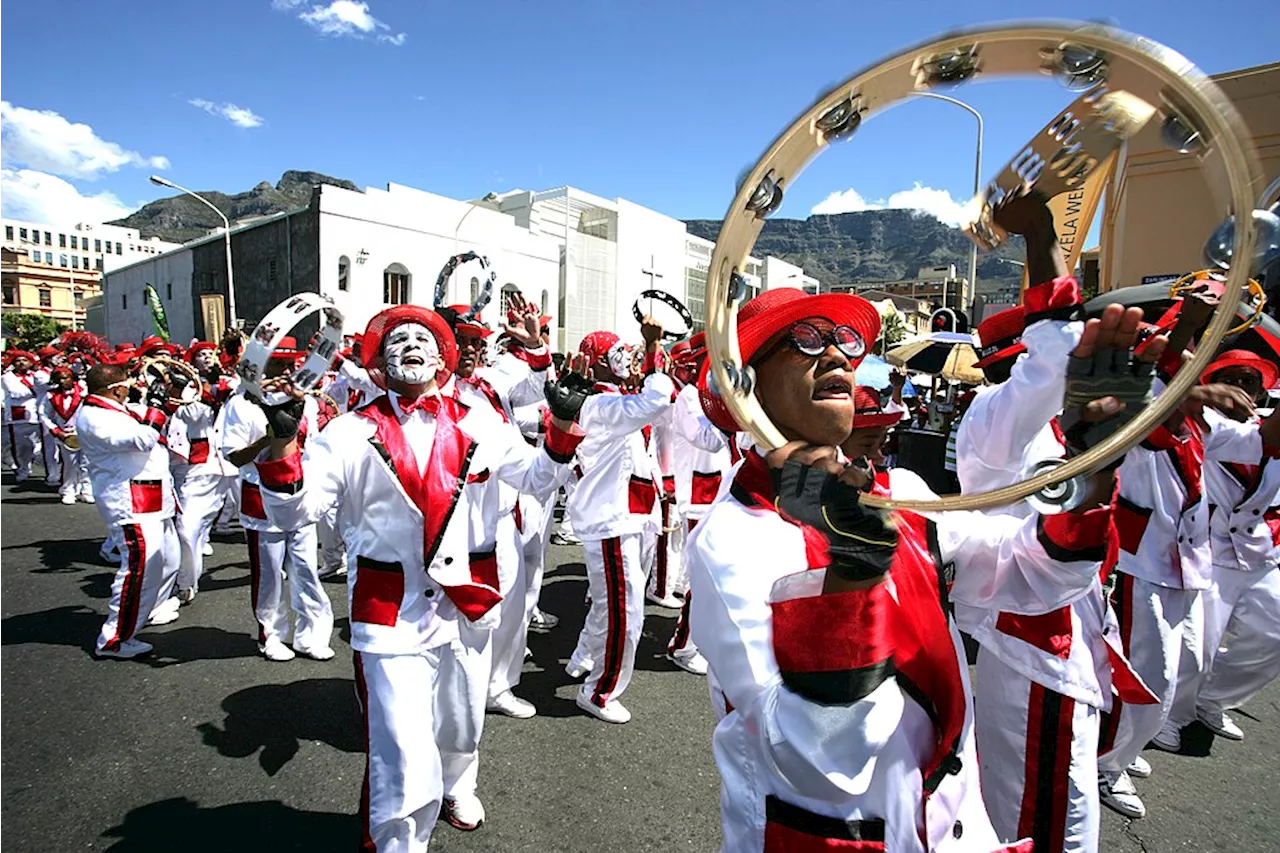
[[[23,165],[68,178],[93,179],[122,167],[168,169],[168,158],[145,158],[97,136],[88,124],[52,110],[0,101],[0,167]]]

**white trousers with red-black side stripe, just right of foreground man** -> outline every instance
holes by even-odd
[[[1098,716],[978,652],[978,771],[1001,841],[1030,838],[1036,853],[1098,849]]]

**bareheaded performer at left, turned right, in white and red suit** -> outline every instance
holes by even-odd
[[[132,658],[151,651],[134,634],[180,561],[169,451],[160,441],[169,389],[156,380],[145,392],[147,406],[136,407],[125,405],[131,384],[119,365],[95,365],[88,371],[88,396],[76,416],[99,515],[123,555],[95,644],[99,657]]]

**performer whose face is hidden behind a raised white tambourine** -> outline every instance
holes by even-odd
[[[268,361],[269,378],[288,374],[298,357],[297,342],[284,338]],[[315,435],[319,411],[314,397],[303,401],[298,441]],[[292,661],[294,652],[317,661],[334,656],[333,605],[320,583],[316,566],[316,525],[282,526],[271,521],[262,505],[261,479],[255,461],[265,461],[270,450],[268,420],[262,409],[242,388],[227,403],[223,425],[223,456],[239,467],[241,525],[248,544],[252,588],[250,602],[257,621],[259,652],[269,661]],[[288,593],[284,585],[288,580]],[[289,611],[296,625],[291,631]],[[293,635],[292,648],[289,635]]]

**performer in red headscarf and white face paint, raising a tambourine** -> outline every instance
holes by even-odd
[[[631,683],[644,625],[648,578],[641,538],[657,521],[655,461],[644,429],[671,406],[675,394],[671,378],[659,369],[662,327],[645,320],[640,333],[645,350],[637,393],[622,391],[632,379],[632,355],[618,336],[593,332],[582,338],[580,351],[595,377],[596,393],[582,406],[586,439],[577,448],[582,473],[567,507],[585,548],[591,607],[566,670],[573,678],[586,675],[577,707],[614,724],[631,720],[618,697]]]

